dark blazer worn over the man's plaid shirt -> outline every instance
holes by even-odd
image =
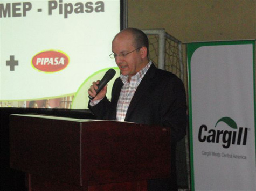
[[[89,109],[96,119],[116,120],[116,107],[123,83],[114,82],[111,102],[105,97]],[[186,134],[186,94],[181,79],[171,72],[148,69],[130,102],[124,121],[171,128],[171,140],[176,142]]]

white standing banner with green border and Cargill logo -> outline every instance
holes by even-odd
[[[254,43],[187,45],[192,190],[256,190]]]

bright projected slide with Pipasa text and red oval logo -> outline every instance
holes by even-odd
[[[85,109],[86,82],[116,67],[120,1],[1,1],[0,26],[1,107]]]

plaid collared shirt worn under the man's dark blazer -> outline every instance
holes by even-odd
[[[130,101],[132,101],[132,98],[134,96],[134,93],[137,90],[137,87],[141,83],[142,78],[148,71],[151,64],[152,64],[152,61],[150,61],[146,65],[146,67],[144,67],[141,71],[137,72],[136,75],[132,76],[130,79],[130,83],[128,82],[128,75],[127,76],[123,76],[122,74],[120,75],[120,79],[123,82],[123,86],[117,102],[116,121],[124,121],[124,119],[126,118],[126,113],[130,105]]]

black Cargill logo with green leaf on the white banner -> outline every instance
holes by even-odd
[[[246,145],[247,142],[247,127],[237,127],[237,123],[230,117],[222,117],[215,125],[215,128],[220,122],[226,123],[232,130],[216,130],[208,129],[205,124],[202,124],[198,132],[198,140],[200,142],[208,143],[223,143],[223,148],[227,149],[231,144],[233,145]],[[220,126],[221,127],[221,126]]]

